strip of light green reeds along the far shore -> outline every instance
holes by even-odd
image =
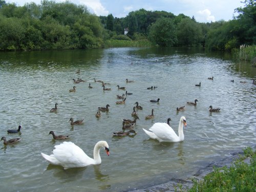
[[[109,39],[104,42],[105,48],[109,47],[151,47],[151,42],[147,40],[118,40]]]

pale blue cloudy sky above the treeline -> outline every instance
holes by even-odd
[[[15,3],[23,6],[25,3],[40,4],[40,0],[5,0],[6,3]],[[147,11],[166,11],[179,15],[183,13],[195,17],[197,22],[207,23],[219,20],[230,20],[237,13],[234,9],[244,7],[242,0],[69,0],[77,5],[86,5],[91,13],[97,16],[125,17],[129,12],[139,9]],[[56,3],[65,2],[55,0]],[[244,1],[243,1],[244,2]]]

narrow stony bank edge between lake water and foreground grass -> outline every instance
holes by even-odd
[[[256,148],[256,145],[252,146],[251,148],[254,151]],[[230,153],[229,157],[226,157],[218,162],[209,163],[206,167],[199,169],[197,173],[195,173],[191,176],[184,177],[184,178],[172,179],[167,183],[147,187],[144,189],[137,189],[137,190],[133,190],[131,192],[187,191],[187,189],[189,189],[193,186],[193,181],[192,181],[193,179],[196,179],[198,181],[203,180],[203,178],[207,174],[209,174],[213,171],[214,167],[224,167],[224,166],[230,167],[231,165],[233,165],[233,162],[236,161],[237,159],[239,159],[241,157],[241,155],[243,155],[243,154],[244,154],[244,152],[242,150],[232,152],[232,153]],[[250,158],[247,157],[244,160],[244,162],[250,163]]]

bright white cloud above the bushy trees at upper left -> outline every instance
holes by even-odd
[[[106,16],[109,14],[109,11],[102,6],[100,0],[80,0],[80,4],[91,8],[97,16]]]

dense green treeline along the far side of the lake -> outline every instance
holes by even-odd
[[[184,14],[140,9],[126,17],[96,16],[86,6],[42,0],[18,7],[0,0],[0,50],[102,48],[118,40],[134,45],[205,47],[210,50],[255,45],[256,3],[245,0],[237,17],[198,23]],[[124,35],[124,29],[128,29]],[[137,42],[140,43],[137,43]],[[113,44],[112,44],[113,45]],[[127,45],[132,45],[131,43]]]

